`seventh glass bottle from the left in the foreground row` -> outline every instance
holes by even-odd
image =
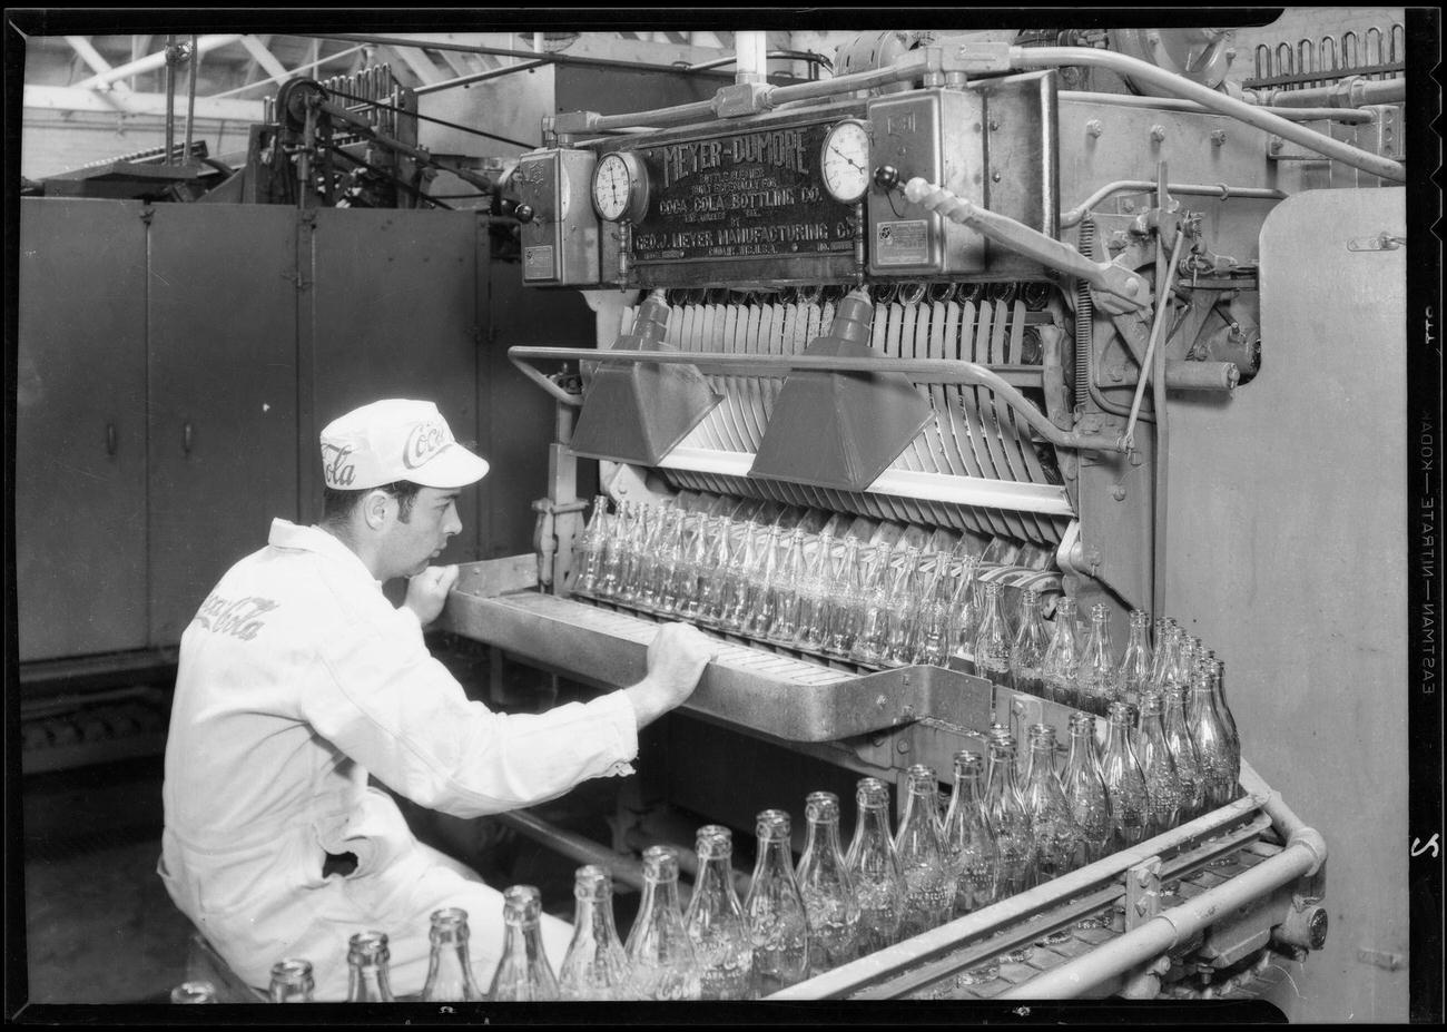
[[[679,909],[679,858],[667,845],[642,851],[642,897],[624,952],[632,999],[699,999],[699,964]]]

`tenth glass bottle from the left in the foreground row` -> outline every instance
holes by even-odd
[[[855,958],[860,900],[839,850],[839,796],[810,792],[805,799],[809,829],[799,855],[799,893],[809,919],[809,977]]]

